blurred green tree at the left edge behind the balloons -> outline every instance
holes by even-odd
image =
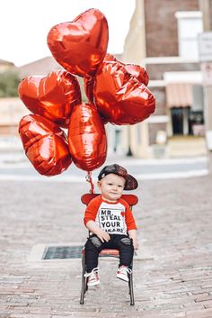
[[[18,86],[20,82],[21,78],[15,70],[0,73],[0,97],[18,96]]]

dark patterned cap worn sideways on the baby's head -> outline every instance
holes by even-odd
[[[132,177],[131,175],[128,175],[128,171],[126,170],[126,168],[123,168],[117,164],[105,166],[104,168],[102,168],[98,176],[98,180],[100,181],[102,177],[105,177],[110,173],[114,173],[115,175],[125,178],[126,183],[124,190],[134,190],[137,188],[137,179],[135,177]]]

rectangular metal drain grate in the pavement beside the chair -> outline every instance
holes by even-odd
[[[42,259],[81,259],[84,246],[49,246]]]

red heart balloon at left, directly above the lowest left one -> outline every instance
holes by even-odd
[[[47,77],[26,77],[19,86],[22,102],[33,114],[67,128],[75,104],[81,103],[80,86],[74,75],[57,70]]]

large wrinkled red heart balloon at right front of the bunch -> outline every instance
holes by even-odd
[[[98,111],[110,123],[134,124],[155,111],[155,98],[136,77],[119,62],[103,62],[93,87]]]

